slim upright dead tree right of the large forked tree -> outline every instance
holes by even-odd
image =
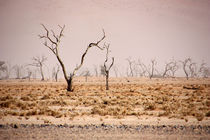
[[[108,66],[107,63],[108,63],[108,55],[109,55],[109,52],[110,52],[110,50],[109,50],[110,44],[107,44],[107,45],[104,44],[104,46],[105,46],[105,49],[106,49],[106,59],[104,61],[104,70],[105,70],[105,75],[106,75],[106,90],[109,90],[109,71],[114,64],[114,57],[112,57],[112,62]]]

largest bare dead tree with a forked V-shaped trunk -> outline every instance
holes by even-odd
[[[45,27],[44,24],[41,24],[41,26],[44,28],[45,30],[45,35],[39,35],[39,37],[41,39],[45,39],[45,42],[44,42],[44,46],[46,46],[48,49],[50,49],[52,51],[52,53],[56,56],[58,62],[60,63],[61,65],[61,68],[62,68],[62,71],[63,71],[63,75],[64,75],[64,78],[67,82],[67,91],[73,91],[73,88],[72,88],[72,85],[73,85],[73,78],[76,74],[76,72],[82,67],[83,63],[84,63],[84,59],[85,59],[85,56],[87,54],[87,52],[89,51],[90,48],[92,47],[97,47],[99,48],[100,50],[103,50],[103,48],[101,48],[99,46],[99,43],[104,40],[105,38],[105,32],[103,30],[103,37],[95,42],[95,43],[90,43],[85,52],[83,53],[82,57],[81,57],[81,62],[78,66],[76,66],[76,68],[73,70],[72,73],[70,73],[70,75],[68,76],[67,73],[66,73],[66,68],[65,68],[65,65],[62,61],[62,59],[60,58],[60,54],[59,54],[59,46],[60,46],[60,41],[61,41],[61,38],[63,37],[63,32],[64,32],[64,29],[65,29],[65,25],[62,27],[60,25],[59,28],[60,28],[60,31],[59,31],[59,34],[55,34],[55,32],[53,30],[51,30],[51,32],[49,32],[49,30]],[[49,44],[50,43],[50,44]]]

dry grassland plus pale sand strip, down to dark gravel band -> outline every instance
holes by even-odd
[[[0,124],[161,121],[209,126],[210,79],[111,78],[106,91],[103,78],[80,77],[74,92],[62,81],[0,81]]]

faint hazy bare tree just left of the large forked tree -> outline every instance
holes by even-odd
[[[32,63],[31,64],[28,64],[28,65],[31,65],[31,66],[34,66],[34,67],[37,67],[39,68],[39,71],[40,71],[40,74],[41,74],[41,77],[42,77],[42,81],[44,81],[44,72],[43,72],[43,66],[44,66],[44,63],[45,61],[47,61],[47,57],[45,56],[36,56],[36,57],[33,57],[32,58]]]

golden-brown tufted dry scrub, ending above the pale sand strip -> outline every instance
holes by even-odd
[[[153,82],[76,82],[74,92],[64,83],[1,82],[0,117],[166,116],[198,121],[210,116],[210,82],[154,80]],[[20,119],[21,119],[20,117]]]

